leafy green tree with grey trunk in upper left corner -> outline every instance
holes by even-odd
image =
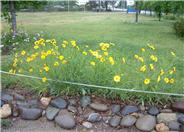
[[[16,35],[16,11],[21,8],[32,7],[40,9],[42,5],[46,4],[46,1],[2,1],[2,13],[1,16],[5,18],[12,26],[12,37]]]

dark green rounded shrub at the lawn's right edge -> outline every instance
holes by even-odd
[[[184,37],[184,18],[179,18],[179,20],[174,23],[174,30],[177,35]]]

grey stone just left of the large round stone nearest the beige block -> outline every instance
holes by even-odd
[[[135,117],[127,115],[127,116],[123,117],[123,119],[120,122],[120,125],[124,126],[124,127],[131,127],[135,124],[135,122],[136,122]]]

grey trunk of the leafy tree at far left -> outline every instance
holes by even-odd
[[[16,34],[16,15],[14,8],[15,1],[10,1],[10,13],[11,13],[11,21],[12,21],[12,37],[15,37]]]

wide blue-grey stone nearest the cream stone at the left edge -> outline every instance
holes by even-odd
[[[21,118],[25,120],[37,120],[42,116],[42,110],[38,108],[20,108]]]

